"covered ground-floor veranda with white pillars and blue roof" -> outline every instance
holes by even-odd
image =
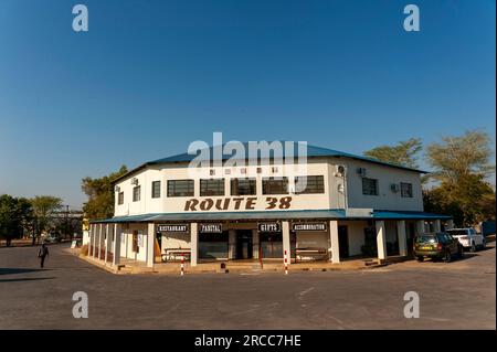
[[[266,258],[261,256],[257,224],[277,223],[281,233],[281,257]],[[294,231],[294,224],[320,224],[319,232]],[[416,233],[442,231],[453,227],[448,216],[425,212],[392,212],[373,210],[318,210],[318,211],[272,211],[272,212],[212,212],[181,214],[144,214],[119,216],[94,221],[89,228],[88,256],[108,266],[119,266],[123,262],[135,260],[147,268],[158,267],[162,263],[162,248],[158,245],[157,234],[160,225],[186,224],[188,246],[183,246],[190,267],[208,265],[202,258],[199,227],[204,224],[222,224],[228,237],[232,238],[235,228],[244,228],[247,236],[252,235],[254,248],[252,257],[245,263],[264,262],[279,265],[287,256],[288,265],[296,265],[296,253],[306,252],[308,243],[318,243],[319,250],[326,252],[317,260],[330,264],[347,262],[347,258],[364,257],[364,247],[369,245],[374,250],[374,257],[384,262],[389,256],[406,256],[410,238]],[[322,225],[324,224],[324,225]],[[346,230],[346,235],[343,235]],[[160,232],[159,232],[160,233]],[[116,236],[117,234],[117,236]],[[200,237],[199,237],[200,236]],[[299,239],[300,238],[300,239]],[[317,238],[317,239],[316,239]],[[200,239],[200,241],[199,241]],[[313,242],[316,239],[315,242]],[[226,256],[221,262],[239,262],[233,255],[234,249],[228,242]],[[347,246],[345,243],[347,242]],[[394,243],[394,250],[390,244]],[[258,247],[257,247],[258,246]],[[181,248],[178,248],[181,249]],[[313,250],[316,247],[313,247]],[[215,262],[215,260],[214,260]]]

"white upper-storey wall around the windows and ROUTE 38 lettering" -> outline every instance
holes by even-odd
[[[339,183],[343,180],[335,175],[336,166],[343,164],[347,168],[346,179],[346,193],[338,192]],[[272,167],[278,168],[277,173],[272,173]],[[263,173],[257,173],[256,169],[262,168]],[[379,194],[378,195],[364,195],[362,194],[362,178],[357,173],[358,168],[367,169],[367,177],[379,180]],[[225,173],[225,170],[230,170],[230,174]],[[398,210],[398,211],[423,211],[423,200],[421,193],[421,179],[417,172],[406,171],[396,168],[383,167],[366,161],[358,161],[347,158],[313,158],[309,159],[305,170],[297,170],[288,178],[289,188],[294,188],[294,177],[299,175],[324,175],[325,177],[325,193],[324,194],[262,194],[262,179],[267,177],[281,177],[288,175],[288,169],[285,166],[262,166],[262,167],[246,167],[247,172],[241,173],[240,167],[233,168],[201,168],[201,173],[192,174],[191,169],[188,168],[188,163],[178,164],[161,164],[148,167],[142,171],[138,171],[131,174],[127,179],[117,183],[120,190],[124,192],[124,204],[117,204],[116,193],[116,216],[123,215],[136,215],[146,213],[181,213],[186,210],[186,203],[188,200],[197,199],[203,201],[205,199],[212,199],[214,201],[222,201],[231,199],[230,206],[226,211],[250,211],[245,209],[245,201],[248,198],[256,198],[254,211],[272,211],[267,210],[267,198],[282,199],[290,196],[290,207],[288,210],[327,210],[327,209],[343,209],[346,203],[348,207],[358,209],[376,209],[376,210]],[[209,170],[214,170],[214,175],[209,175]],[[131,179],[137,178],[138,183],[141,185],[141,196],[139,202],[133,202],[133,188]],[[225,195],[223,196],[200,196],[200,179],[208,178],[224,178],[225,179]],[[256,179],[256,195],[240,196],[244,201],[241,202],[240,209],[235,209],[235,196],[230,192],[230,180],[232,178],[255,178]],[[167,181],[168,180],[183,180],[194,179],[194,195],[192,198],[168,198],[167,196]],[[161,181],[161,194],[159,199],[151,198],[151,182]],[[401,182],[411,183],[413,185],[413,198],[402,198],[401,193],[394,193],[391,191],[391,184]],[[347,195],[347,202],[346,196]],[[273,209],[274,211],[281,211],[278,206]],[[208,211],[200,210],[197,205],[197,212],[221,212],[214,206]]]

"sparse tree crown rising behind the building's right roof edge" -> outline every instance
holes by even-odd
[[[417,154],[423,149],[420,138],[400,141],[394,146],[380,146],[364,152],[366,157],[380,161],[400,164],[408,168],[417,168]]]

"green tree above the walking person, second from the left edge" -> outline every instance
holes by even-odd
[[[62,207],[62,200],[52,195],[36,195],[30,203],[33,207],[33,217],[28,227],[31,230],[34,245],[36,238],[51,227],[55,212]]]

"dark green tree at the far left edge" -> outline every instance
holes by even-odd
[[[31,217],[32,207],[27,199],[0,195],[0,238],[6,239],[7,246],[23,235],[24,225]]]

